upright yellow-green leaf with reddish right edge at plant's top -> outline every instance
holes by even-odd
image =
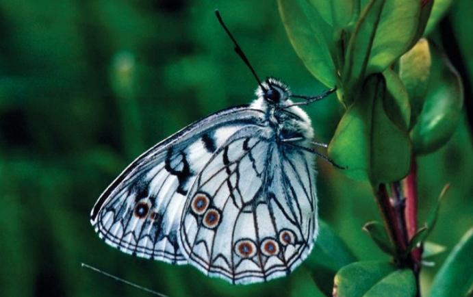
[[[386,0],[368,64],[368,74],[383,72],[411,47],[416,38],[420,1]]]

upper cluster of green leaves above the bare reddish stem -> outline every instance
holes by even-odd
[[[425,40],[406,53],[424,29],[431,3],[372,0],[356,21],[351,1],[340,12],[335,12],[335,3],[309,3],[279,1],[279,10],[294,49],[311,73],[326,85],[327,79],[340,83],[338,94],[347,111],[331,142],[331,157],[355,179],[369,178],[374,184],[401,179],[409,168],[410,142],[417,154],[435,151],[450,138],[461,114],[461,81],[446,57],[431,53]],[[438,12],[438,6],[433,10]],[[403,54],[398,77],[387,68]],[[366,76],[383,71],[389,96],[384,90],[376,96],[366,93],[374,88]],[[372,101],[374,97],[382,99]],[[410,125],[411,140],[406,134]],[[355,158],[344,156],[347,152],[356,152]],[[400,162],[394,162],[396,157]]]

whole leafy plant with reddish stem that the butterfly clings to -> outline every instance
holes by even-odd
[[[451,1],[442,0],[297,1],[292,5],[279,1],[287,34],[305,66],[326,85],[327,77],[337,81],[337,96],[346,110],[329,144],[329,156],[344,167],[344,175],[370,181],[389,237],[378,222],[365,224],[363,230],[400,268],[414,272],[422,261],[418,247],[433,230],[439,201],[431,207],[426,224],[408,237],[407,228],[417,218],[404,213],[404,197],[396,188],[409,170],[415,170],[418,156],[448,142],[461,119],[463,85],[457,70],[432,41],[420,39],[450,5]],[[301,13],[287,17],[295,11],[305,13],[305,23],[296,22]],[[298,38],[297,31],[311,31],[312,38],[326,44],[311,49],[305,41],[310,36]],[[308,62],[319,60],[326,67]],[[411,174],[417,176],[416,171]],[[426,248],[428,257],[442,251],[433,244]],[[388,273],[370,265],[360,262],[339,270],[337,296],[416,294],[411,270],[381,266],[390,267]]]

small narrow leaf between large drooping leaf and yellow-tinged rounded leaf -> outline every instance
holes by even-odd
[[[411,103],[409,103],[409,94],[400,80],[397,73],[391,68],[383,71],[386,79],[387,96],[385,99],[385,110],[387,116],[402,128],[408,131],[409,121],[411,120]]]

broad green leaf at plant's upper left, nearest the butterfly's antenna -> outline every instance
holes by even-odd
[[[303,0],[277,2],[287,36],[297,55],[316,79],[333,88],[337,85],[337,77],[331,44],[327,43],[325,37],[327,25],[315,24],[318,18],[314,18],[314,14],[318,12]]]

